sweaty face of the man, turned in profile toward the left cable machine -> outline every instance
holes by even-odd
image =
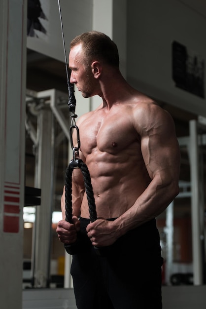
[[[75,45],[69,53],[70,82],[76,84],[84,98],[89,98],[96,94],[94,93],[95,78],[91,67],[86,66],[84,63],[82,46],[81,44]]]

